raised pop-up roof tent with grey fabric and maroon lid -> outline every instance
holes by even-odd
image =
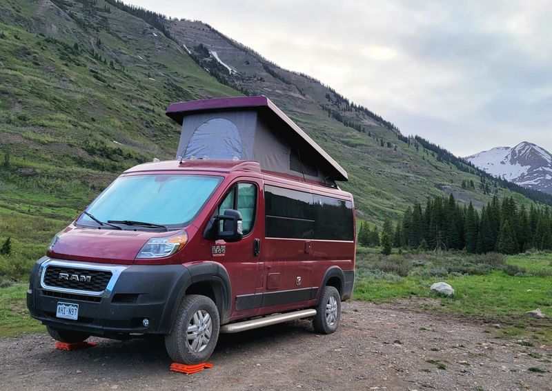
[[[172,103],[182,126],[177,159],[258,161],[264,172],[335,186],[347,173],[266,97]]]

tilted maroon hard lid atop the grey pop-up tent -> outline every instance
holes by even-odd
[[[347,172],[339,166],[326,151],[322,149],[311,137],[306,134],[295,122],[293,122],[282,110],[270,101],[267,97],[228,97],[215,99],[201,99],[199,101],[187,101],[172,103],[168,106],[166,114],[171,119],[182,125],[184,117],[197,112],[213,112],[222,110],[257,110],[263,112],[266,116],[276,123],[281,132],[290,132],[296,134],[306,141],[311,150],[326,161],[331,170],[331,177],[336,181],[347,181]]]

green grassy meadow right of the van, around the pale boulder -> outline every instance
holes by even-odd
[[[403,298],[433,298],[437,302],[424,303],[431,312],[460,314],[470,319],[487,323],[500,323],[498,336],[513,338],[529,336],[533,340],[552,343],[552,323],[549,319],[531,319],[526,311],[540,308],[548,317],[552,315],[552,279],[530,274],[509,276],[500,270],[506,264],[515,264],[528,272],[552,271],[552,254],[522,254],[507,257],[503,265],[477,268],[477,257],[459,254],[404,254],[388,258],[392,263],[408,263],[411,269],[406,277],[386,272],[382,256],[374,252],[359,255],[357,260],[357,281],[353,297],[359,300],[383,303]],[[432,270],[446,267],[462,270],[457,263],[470,263],[475,266],[467,271],[486,274],[460,274],[453,272],[432,276]],[[404,273],[403,273],[404,274]],[[453,286],[454,297],[437,297],[429,287],[432,283],[444,281]]]

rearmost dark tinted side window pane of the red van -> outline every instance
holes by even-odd
[[[353,240],[353,203],[314,194],[315,239]]]

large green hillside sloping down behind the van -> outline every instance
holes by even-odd
[[[529,203],[204,23],[115,5],[0,3],[0,239],[13,237],[21,259],[39,257],[124,169],[174,157],[179,127],[164,115],[168,103],[242,93],[275,101],[339,161],[351,179],[342,187],[373,223],[442,192],[489,201],[484,187],[462,189],[463,181]]]

